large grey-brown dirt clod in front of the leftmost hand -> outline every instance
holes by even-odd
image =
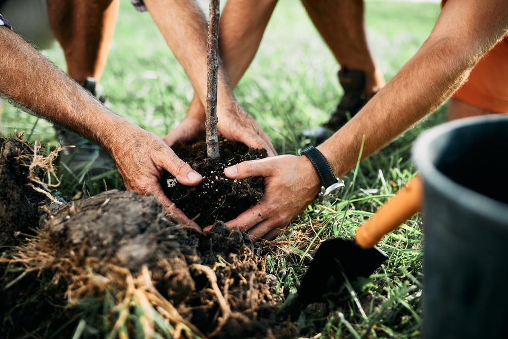
[[[161,293],[175,303],[194,289],[187,264],[200,262],[198,237],[166,219],[151,195],[112,190],[71,202],[50,218],[45,231],[48,245],[62,251],[56,256],[72,251],[78,265],[97,258],[132,273],[147,265]],[[106,276],[107,269],[98,266],[98,273]]]

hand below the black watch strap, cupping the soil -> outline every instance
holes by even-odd
[[[246,161],[226,168],[224,173],[231,179],[264,177],[265,191],[260,203],[226,223],[229,228],[248,230],[254,241],[275,238],[277,229],[287,227],[314,200],[321,187],[307,157],[286,155]],[[203,231],[210,229],[211,226],[205,227]]]

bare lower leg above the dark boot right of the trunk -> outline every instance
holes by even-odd
[[[367,46],[363,0],[302,0],[302,4],[340,66],[365,72],[367,98],[381,89],[385,80]]]

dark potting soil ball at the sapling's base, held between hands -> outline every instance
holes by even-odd
[[[207,157],[205,141],[177,142],[171,148],[203,176],[203,181],[198,186],[184,186],[167,173],[161,184],[171,201],[201,227],[217,220],[233,220],[263,197],[263,178],[231,180],[224,174],[224,169],[243,161],[266,158],[266,149],[249,148],[219,138],[220,159],[211,160]]]

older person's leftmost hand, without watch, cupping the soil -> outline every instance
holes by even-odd
[[[116,138],[116,142],[108,148],[111,149],[111,155],[123,178],[125,188],[136,191],[140,195],[153,193],[171,219],[202,233],[201,228],[188,219],[164,194],[160,180],[163,169],[169,171],[178,182],[186,186],[196,186],[203,177],[179,159],[173,150],[155,134],[138,127],[129,127],[119,135],[120,138]]]

